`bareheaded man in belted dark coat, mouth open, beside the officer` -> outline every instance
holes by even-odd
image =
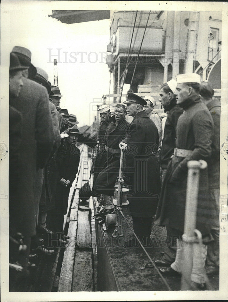
[[[116,178],[119,175],[119,159],[120,149],[119,143],[126,137],[129,124],[127,123],[126,109],[123,104],[116,104],[115,106],[115,121],[112,121],[106,130],[105,137],[102,141],[102,147],[105,152],[102,154],[100,160],[100,167],[103,167],[99,172],[95,188],[99,194],[103,194],[104,211],[97,217],[103,218],[106,214],[111,214],[113,210],[112,198],[114,195],[114,187]]]

